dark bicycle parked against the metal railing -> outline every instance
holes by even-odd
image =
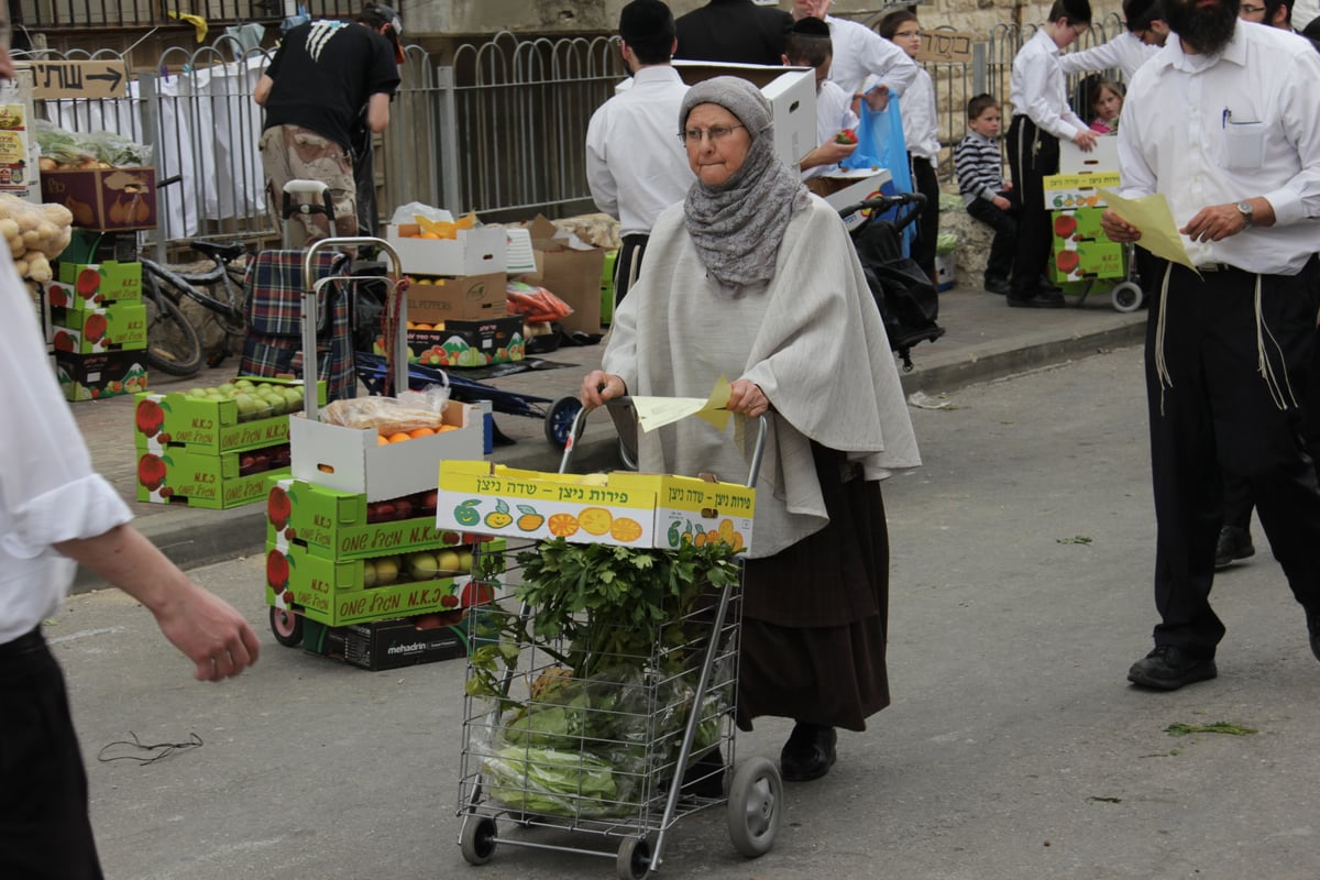
[[[190,245],[214,265],[202,272],[178,272],[154,260],[139,257],[143,267],[143,302],[147,306],[147,351],[149,367],[172,376],[191,376],[202,368],[202,336],[182,310],[185,298],[211,313],[215,323],[231,336],[246,331],[247,267],[231,265],[247,255],[242,241],[193,241]],[[220,293],[215,290],[219,288]],[[215,365],[223,355],[211,363]]]

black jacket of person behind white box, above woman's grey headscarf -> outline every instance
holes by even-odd
[[[711,0],[675,22],[675,58],[741,65],[781,65],[793,16],[751,0]]]

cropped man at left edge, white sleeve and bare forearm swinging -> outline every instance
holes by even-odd
[[[12,77],[0,47],[0,78]],[[0,877],[95,880],[82,749],[63,673],[42,636],[77,563],[145,606],[193,661],[194,678],[238,676],[260,644],[238,611],[129,525],[128,505],[92,470],[8,253],[0,327],[0,372],[21,377],[0,384]]]

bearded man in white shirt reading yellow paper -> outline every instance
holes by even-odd
[[[1155,649],[1143,687],[1214,678],[1209,604],[1225,470],[1261,525],[1320,658],[1320,489],[1302,405],[1320,309],[1320,55],[1238,22],[1239,0],[1164,0],[1175,37],[1133,79],[1118,129],[1123,194],[1162,194],[1200,273],[1158,261],[1146,346],[1158,524]],[[1105,234],[1142,231],[1109,208]]]

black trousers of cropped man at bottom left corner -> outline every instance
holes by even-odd
[[[0,645],[0,877],[102,877],[65,677],[40,631]]]

